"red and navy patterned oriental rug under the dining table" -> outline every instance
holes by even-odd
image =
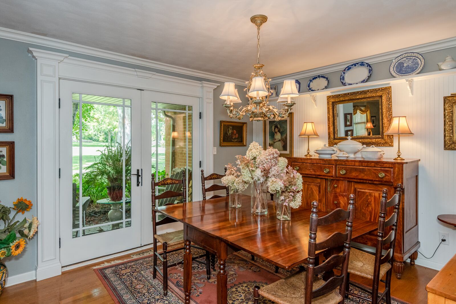
[[[193,250],[192,253],[198,254],[200,252]],[[180,259],[182,259],[181,251],[168,254],[169,263],[175,263]],[[152,263],[152,255],[141,256],[140,254],[138,258],[96,268],[94,271],[117,304],[183,303],[182,265],[168,269],[168,294],[165,296],[160,274],[157,273],[157,278],[152,278]],[[252,290],[255,285],[262,287],[273,283],[280,278],[288,276],[298,268],[293,268],[290,271],[280,269],[279,273],[274,273],[274,265],[258,258],[255,258],[255,261],[251,261],[250,254],[241,251],[228,256],[225,269],[228,273],[228,303],[252,304]],[[217,271],[212,271],[211,277],[207,279],[205,266],[193,262],[191,303],[216,303],[216,282]],[[357,283],[350,282],[351,292],[369,297],[358,286]],[[274,302],[262,298],[259,303],[274,304]],[[345,303],[358,304],[368,302],[350,297],[346,299]],[[392,303],[405,304],[405,302],[394,298],[392,298]]]

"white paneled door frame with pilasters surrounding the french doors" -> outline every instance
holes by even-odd
[[[36,59],[36,208],[41,222],[37,235],[36,280],[39,281],[62,272],[59,250],[59,79],[200,98],[200,125],[206,132],[200,135],[200,156],[205,160],[202,169],[207,172],[212,172],[213,168],[213,113],[206,111],[213,108],[213,89],[219,84],[119,67],[36,48],[29,48],[28,52]]]

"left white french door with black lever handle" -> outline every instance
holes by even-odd
[[[62,266],[139,247],[140,91],[60,80],[60,105]]]

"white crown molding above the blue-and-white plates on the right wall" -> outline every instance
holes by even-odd
[[[386,53],[382,53],[382,54],[378,54],[378,55],[353,59],[353,60],[349,60],[346,62],[335,63],[335,64],[331,64],[331,65],[328,65],[325,67],[316,67],[314,69],[310,69],[310,70],[306,70],[306,71],[302,71],[302,72],[291,73],[291,74],[283,75],[280,77],[274,77],[274,78],[272,78],[272,80],[270,82],[271,82],[271,84],[273,84],[273,83],[283,82],[285,79],[300,79],[300,78],[304,78],[304,77],[316,76],[316,75],[323,74],[323,73],[341,71],[344,68],[346,68],[348,65],[350,65],[354,62],[365,61],[370,64],[373,64],[373,63],[377,63],[377,62],[392,60],[406,52],[427,53],[427,52],[446,49],[448,47],[453,47],[453,46],[456,46],[456,37],[439,40],[439,41],[434,41],[434,42],[429,42],[429,43],[425,43],[425,44],[420,44],[418,46],[411,46],[411,47],[403,48],[403,49],[396,50],[396,51],[386,52]]]

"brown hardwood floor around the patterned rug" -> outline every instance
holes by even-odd
[[[114,260],[125,260],[130,254]],[[111,296],[95,275],[91,267],[102,262],[68,270],[62,275],[40,282],[30,281],[5,288],[0,297],[1,304],[114,304]],[[436,270],[406,263],[402,279],[393,276],[391,295],[410,304],[427,303],[426,284],[437,274]],[[353,281],[370,286],[367,279],[352,275]],[[380,284],[383,291],[384,284]]]

